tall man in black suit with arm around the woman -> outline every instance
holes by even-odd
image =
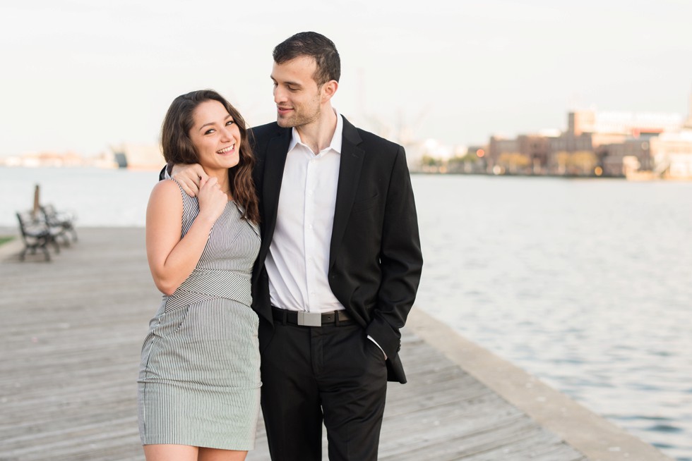
[[[270,453],[321,460],[324,423],[330,460],[376,460],[387,381],[406,381],[399,330],[422,269],[404,149],[333,109],[340,58],[330,39],[301,32],[273,57],[277,121],[252,130]]]

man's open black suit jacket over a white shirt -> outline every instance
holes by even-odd
[[[273,335],[264,261],[274,233],[292,129],[268,123],[251,130],[257,163],[262,245],[253,273],[260,346]],[[411,178],[403,147],[344,119],[339,183],[329,253],[329,285],[347,312],[386,353],[388,379],[406,382],[400,332],[416,297],[422,254]]]

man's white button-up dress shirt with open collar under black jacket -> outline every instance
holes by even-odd
[[[304,312],[344,309],[329,287],[329,245],[339,183],[343,120],[315,154],[293,128],[266,268],[272,305]]]

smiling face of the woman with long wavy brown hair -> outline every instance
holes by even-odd
[[[190,139],[197,149],[203,168],[232,168],[240,161],[240,130],[226,108],[209,100],[197,106],[192,114]]]

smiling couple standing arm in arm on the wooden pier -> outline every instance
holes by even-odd
[[[321,460],[323,423],[330,460],[376,460],[387,381],[406,381],[422,255],[404,149],[333,109],[330,39],[301,32],[273,58],[275,123],[246,130],[204,90],[163,125],[175,180],[147,211],[165,294],[139,379],[149,461],[244,460],[260,395],[274,461]]]

